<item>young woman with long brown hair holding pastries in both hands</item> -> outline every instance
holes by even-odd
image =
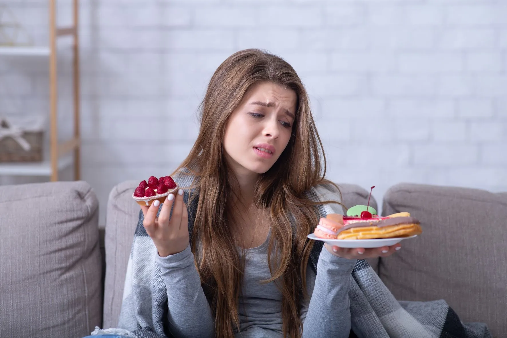
[[[295,70],[261,50],[236,52],[215,71],[201,108],[197,141],[171,175],[193,177],[184,187],[196,206],[192,232],[183,190],[141,207],[167,289],[166,334],[348,337],[356,259],[389,256],[400,244],[325,245],[317,273],[309,268],[316,206],[343,209],[338,187],[323,179],[322,144]],[[334,198],[312,201],[306,192],[317,186]]]

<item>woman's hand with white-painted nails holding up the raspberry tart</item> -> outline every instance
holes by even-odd
[[[189,245],[188,212],[183,201],[183,190],[179,189],[176,196],[172,193],[167,196],[157,218],[159,205],[160,202],[156,200],[151,206],[141,206],[144,215],[142,225],[153,240],[158,254],[166,257],[182,252]]]

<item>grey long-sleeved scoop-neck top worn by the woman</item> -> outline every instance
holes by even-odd
[[[282,294],[274,282],[260,283],[271,277],[268,242],[269,235],[261,246],[244,250],[244,279],[238,304],[240,331],[235,332],[235,337],[283,337]],[[241,254],[239,248],[238,251]],[[190,245],[174,255],[157,255],[156,262],[167,287],[171,333],[176,337],[214,336],[213,315],[200,285]],[[302,304],[303,338],[349,336],[348,291],[355,262],[336,257],[322,247],[317,275],[308,266],[307,290],[311,298]]]

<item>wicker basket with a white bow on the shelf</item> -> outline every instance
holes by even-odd
[[[9,128],[6,120],[0,119],[0,128]],[[12,137],[0,139],[0,162],[40,162],[43,160],[44,131],[23,131],[21,137],[30,145],[29,150],[23,147]]]

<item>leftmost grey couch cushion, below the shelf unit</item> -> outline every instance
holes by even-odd
[[[101,325],[98,202],[86,182],[0,186],[0,336]]]

